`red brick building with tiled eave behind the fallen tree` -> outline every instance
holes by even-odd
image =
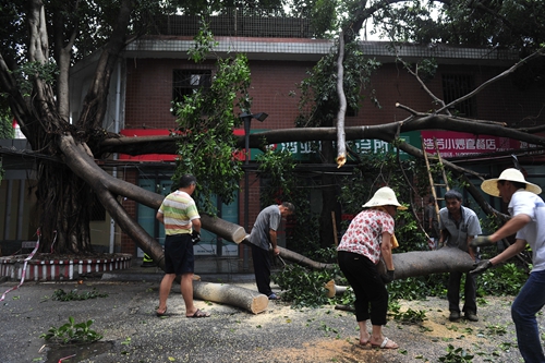
[[[164,27],[167,27],[166,24],[170,26],[171,23],[166,22]],[[167,133],[168,130],[174,129],[174,117],[170,108],[175,95],[180,92],[191,92],[194,86],[205,85],[215,71],[215,57],[230,57],[238,52],[246,55],[252,72],[252,111],[268,113],[264,123],[254,120],[252,130],[292,128],[299,114],[298,84],[306,76],[306,71],[330,51],[334,44],[330,40],[304,37],[308,36],[304,32],[300,34],[294,31],[293,35],[287,31],[303,28],[307,25],[303,20],[290,24],[271,26],[264,33],[267,37],[259,37],[258,29],[264,23],[254,24],[254,31],[246,27],[246,33],[216,36],[218,45],[209,60],[202,64],[187,60],[187,50],[193,47],[194,41],[192,36],[183,35],[183,32],[167,29],[171,33],[164,31],[159,32],[161,35],[146,36],[131,43],[112,76],[105,129],[125,135]],[[390,44],[380,41],[362,41],[361,47],[365,57],[375,58],[383,63],[373,75],[371,86],[382,108],[375,107],[368,99],[364,100],[358,116],[347,117],[347,126],[382,124],[405,119],[409,114],[396,108],[396,102],[417,111],[437,108],[421,84],[409,74],[401,62],[396,61],[397,56],[411,63],[424,58],[434,58],[438,69],[426,86],[446,101],[474,89],[518,60],[517,53],[501,49],[407,44],[392,48]],[[73,68],[71,114],[74,120],[78,117],[96,60],[97,55]],[[194,84],[180,85],[184,78],[193,80]],[[513,77],[506,77],[464,102],[459,111],[465,117],[531,126],[545,122],[544,112],[541,112],[543,102],[543,92],[532,87],[522,88],[513,82]],[[159,193],[167,194],[170,191],[170,176],[173,171],[171,157],[155,156],[138,160],[117,155],[113,158],[118,162],[112,164],[111,172],[118,178]],[[501,161],[498,161],[498,167],[501,167]],[[540,170],[533,170],[531,166],[529,168],[535,178],[543,177]],[[249,197],[250,226],[262,209],[258,203],[258,182],[254,179],[251,179]],[[237,202],[231,206],[221,207],[222,218],[244,226],[243,195],[241,182]],[[159,241],[162,240],[162,229],[155,220],[155,210],[140,206],[133,201],[122,203],[148,233]],[[106,220],[93,223],[94,245],[111,252],[137,254],[134,242],[114,226],[109,216],[106,216]],[[205,243],[196,249],[197,255],[241,255],[239,246],[211,234],[206,235]]]

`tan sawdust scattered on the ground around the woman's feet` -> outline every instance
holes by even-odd
[[[445,299],[399,301],[401,312],[409,308],[424,311],[425,320],[420,324],[401,324],[390,318],[384,332],[400,346],[397,350],[360,346],[355,317],[350,316],[352,320],[348,322],[352,322],[353,326],[347,329],[348,335],[342,331],[335,337],[315,339],[298,348],[281,348],[270,353],[275,356],[274,362],[425,363],[440,362],[441,358],[450,358],[450,362],[455,362],[455,355],[458,359],[473,355],[468,360],[473,363],[518,362],[521,356],[510,317],[512,300],[512,297],[480,299],[480,320],[469,322],[462,318],[457,323],[448,320],[448,302]],[[278,314],[293,316],[294,313],[289,306],[276,306],[275,315]],[[272,319],[274,315],[258,314],[252,318],[252,324],[266,325]],[[541,316],[538,319],[540,324],[545,320]],[[371,330],[371,326],[368,328]]]

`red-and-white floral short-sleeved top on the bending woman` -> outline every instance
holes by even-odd
[[[377,264],[380,259],[383,233],[393,234],[393,218],[382,210],[365,209],[350,222],[337,251],[363,255]]]

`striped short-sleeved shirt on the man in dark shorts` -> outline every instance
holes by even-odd
[[[167,195],[159,207],[165,217],[165,234],[191,233],[191,221],[201,218],[195,201],[185,192],[175,191]]]

